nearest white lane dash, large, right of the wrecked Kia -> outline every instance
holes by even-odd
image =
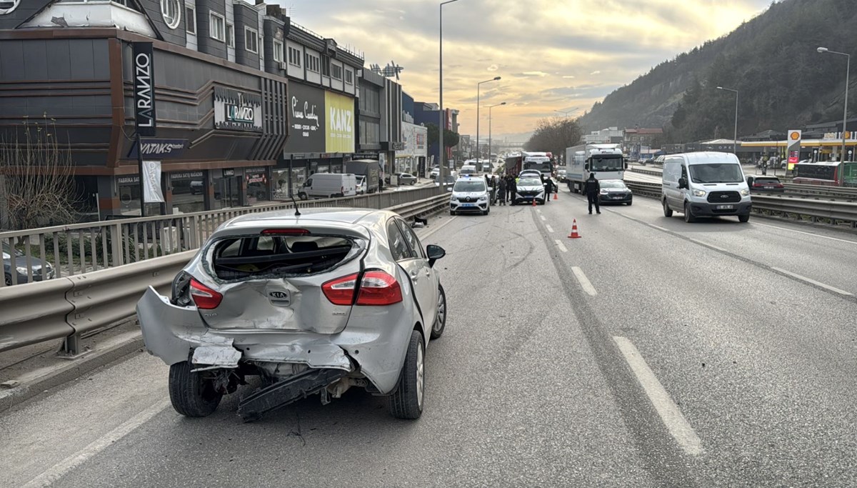
[[[667,426],[667,430],[679,443],[681,449],[684,449],[689,455],[701,455],[703,453],[702,441],[699,440],[685,416],[681,414],[679,407],[669,397],[667,390],[657,380],[655,373],[651,371],[649,364],[646,364],[637,347],[625,337],[617,335],[613,337],[613,340],[616,342],[616,346],[619,346],[619,351],[628,365],[631,366],[631,370],[645,390],[645,394],[649,396],[649,400],[661,417],[663,425]]]

